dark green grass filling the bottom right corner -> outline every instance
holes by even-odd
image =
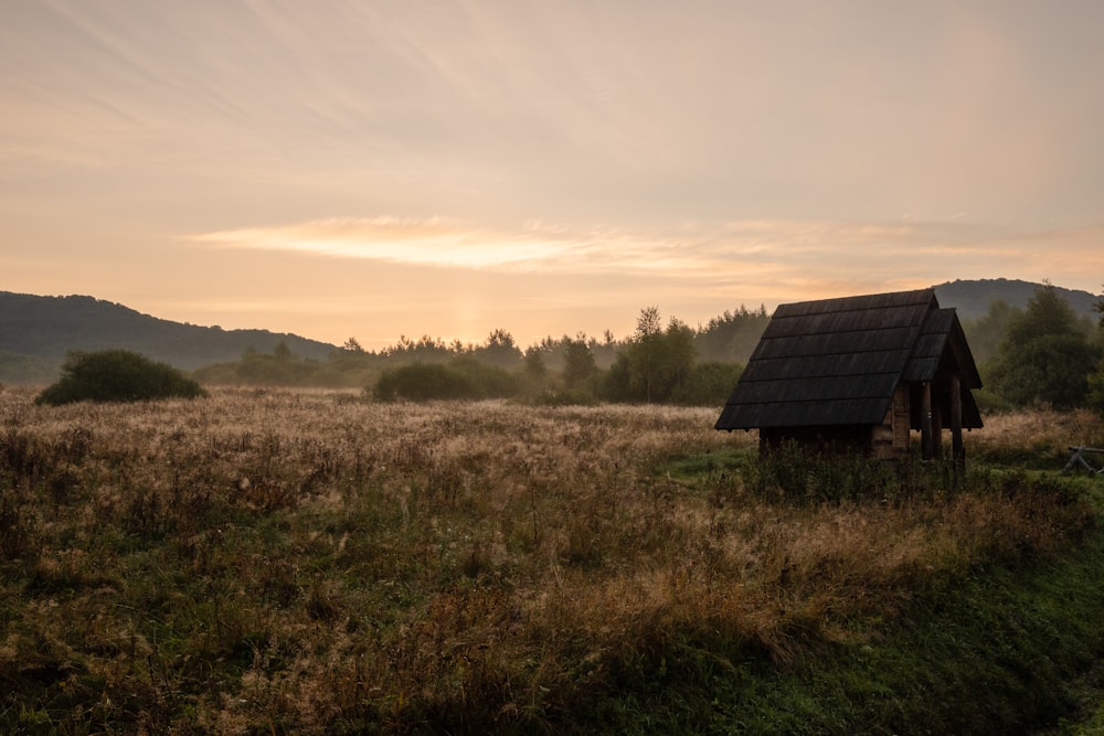
[[[591,693],[571,727],[616,733],[1028,734],[1093,713],[1104,657],[1104,534],[1061,558],[970,573],[900,621],[803,639],[778,666],[746,641],[672,632]],[[614,684],[614,683],[608,683]],[[1100,723],[1098,712],[1090,722]],[[1093,733],[1083,730],[1078,733]]]

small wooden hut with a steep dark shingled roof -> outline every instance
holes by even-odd
[[[954,309],[934,289],[782,305],[716,420],[826,451],[891,458],[921,435],[924,459],[962,459],[963,429],[981,426],[981,386]]]

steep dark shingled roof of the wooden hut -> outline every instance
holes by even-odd
[[[716,428],[880,424],[900,382],[940,370],[962,374],[963,426],[980,427],[977,367],[934,289],[782,305]]]

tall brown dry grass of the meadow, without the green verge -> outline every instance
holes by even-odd
[[[733,653],[787,666],[1093,522],[1016,473],[831,504],[739,469],[672,478],[673,457],[755,462],[714,415],[251,390],[45,408],[8,388],[3,708],[70,729],[578,726],[595,692]],[[1061,447],[1071,422],[1098,436],[1009,416],[969,448]]]

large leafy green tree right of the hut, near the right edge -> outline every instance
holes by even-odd
[[[1038,287],[1009,321],[990,369],[994,391],[1012,404],[1085,404],[1089,375],[1101,359],[1076,313],[1050,282]]]

